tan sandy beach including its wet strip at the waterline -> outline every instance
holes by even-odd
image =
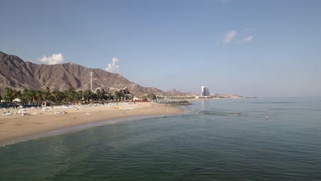
[[[55,112],[58,111],[66,113],[56,114]],[[4,110],[1,110],[1,112],[4,112]],[[11,110],[11,112],[14,112],[14,110]],[[27,112],[31,115],[0,115],[0,146],[45,136],[78,132],[113,123],[182,114],[183,110],[163,104],[143,102],[78,109],[56,108],[45,112],[28,109]]]

